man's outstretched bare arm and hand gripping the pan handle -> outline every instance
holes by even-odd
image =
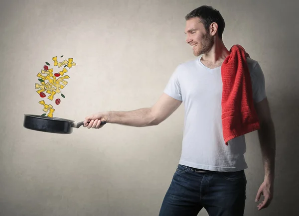
[[[98,119],[109,123],[123,124],[135,127],[158,125],[173,113],[181,104],[181,101],[171,98],[163,93],[159,100],[151,108],[140,108],[132,111],[106,111],[99,112],[85,118],[84,126],[101,128]],[[91,123],[86,123],[88,121]]]

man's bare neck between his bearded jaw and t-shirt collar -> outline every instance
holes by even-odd
[[[223,41],[216,39],[212,48],[202,55],[201,61],[209,65],[217,65],[222,63],[229,54],[230,51],[225,47]]]

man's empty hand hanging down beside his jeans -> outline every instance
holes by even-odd
[[[273,199],[273,193],[274,193],[274,182],[271,180],[264,180],[262,185],[260,186],[258,190],[258,194],[256,196],[255,202],[259,202],[261,195],[264,196],[264,200],[258,205],[258,211],[267,208],[272,199]]]

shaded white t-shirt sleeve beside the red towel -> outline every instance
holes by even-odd
[[[255,103],[266,98],[265,77],[259,63],[257,63],[251,73],[252,94]]]

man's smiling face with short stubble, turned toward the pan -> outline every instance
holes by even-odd
[[[208,52],[214,44],[213,36],[206,32],[198,17],[186,21],[185,33],[186,42],[192,46],[195,56]]]

